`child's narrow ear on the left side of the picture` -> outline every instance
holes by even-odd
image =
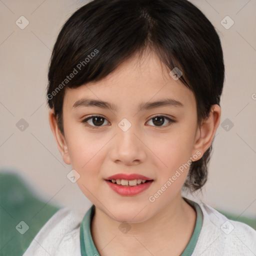
[[[62,155],[62,159],[66,164],[70,164],[70,157],[67,149],[67,144],[64,135],[58,128],[57,120],[54,115],[53,109],[49,110],[49,124],[55,141],[57,143],[58,151]]]

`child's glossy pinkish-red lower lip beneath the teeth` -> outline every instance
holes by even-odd
[[[149,180],[145,183],[140,183],[135,186],[123,186],[123,185],[117,185],[116,183],[112,183],[111,181],[106,180],[106,183],[112,188],[117,194],[124,195],[124,196],[130,196],[138,194],[145,189],[147,189],[153,180]]]

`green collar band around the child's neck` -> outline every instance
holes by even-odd
[[[185,249],[180,256],[190,256],[194,250],[195,244],[197,242],[201,226],[202,226],[202,211],[200,206],[187,198],[184,198],[195,210],[196,210],[196,222],[192,236],[186,245]],[[93,204],[85,213],[81,224],[80,224],[80,246],[81,246],[81,256],[99,256],[95,244],[91,237],[91,220],[94,216],[95,205]]]

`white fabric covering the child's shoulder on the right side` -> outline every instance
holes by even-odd
[[[202,227],[193,256],[252,256],[256,253],[256,230],[245,223],[230,220],[201,201]]]

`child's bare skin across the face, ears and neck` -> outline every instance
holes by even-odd
[[[99,107],[76,107],[81,98],[114,103],[116,111]],[[160,106],[138,110],[141,102],[172,98],[183,106]],[[105,119],[90,128],[82,120],[99,114]],[[155,115],[165,115],[160,127]],[[131,127],[123,131],[118,123],[126,118]],[[189,157],[210,146],[220,120],[220,107],[212,105],[209,116],[197,125],[196,101],[192,91],[170,77],[158,57],[145,52],[134,55],[97,82],[66,88],[63,100],[64,135],[58,129],[54,112],[49,123],[58,149],[66,164],[80,177],[76,181],[84,195],[95,205],[91,233],[100,255],[180,255],[186,247],[196,220],[196,212],[182,197],[181,187],[188,168],[155,199],[149,201],[169,177]],[[138,173],[153,179],[143,192],[121,196],[104,180],[116,173]],[[118,226],[127,222],[130,230]]]

